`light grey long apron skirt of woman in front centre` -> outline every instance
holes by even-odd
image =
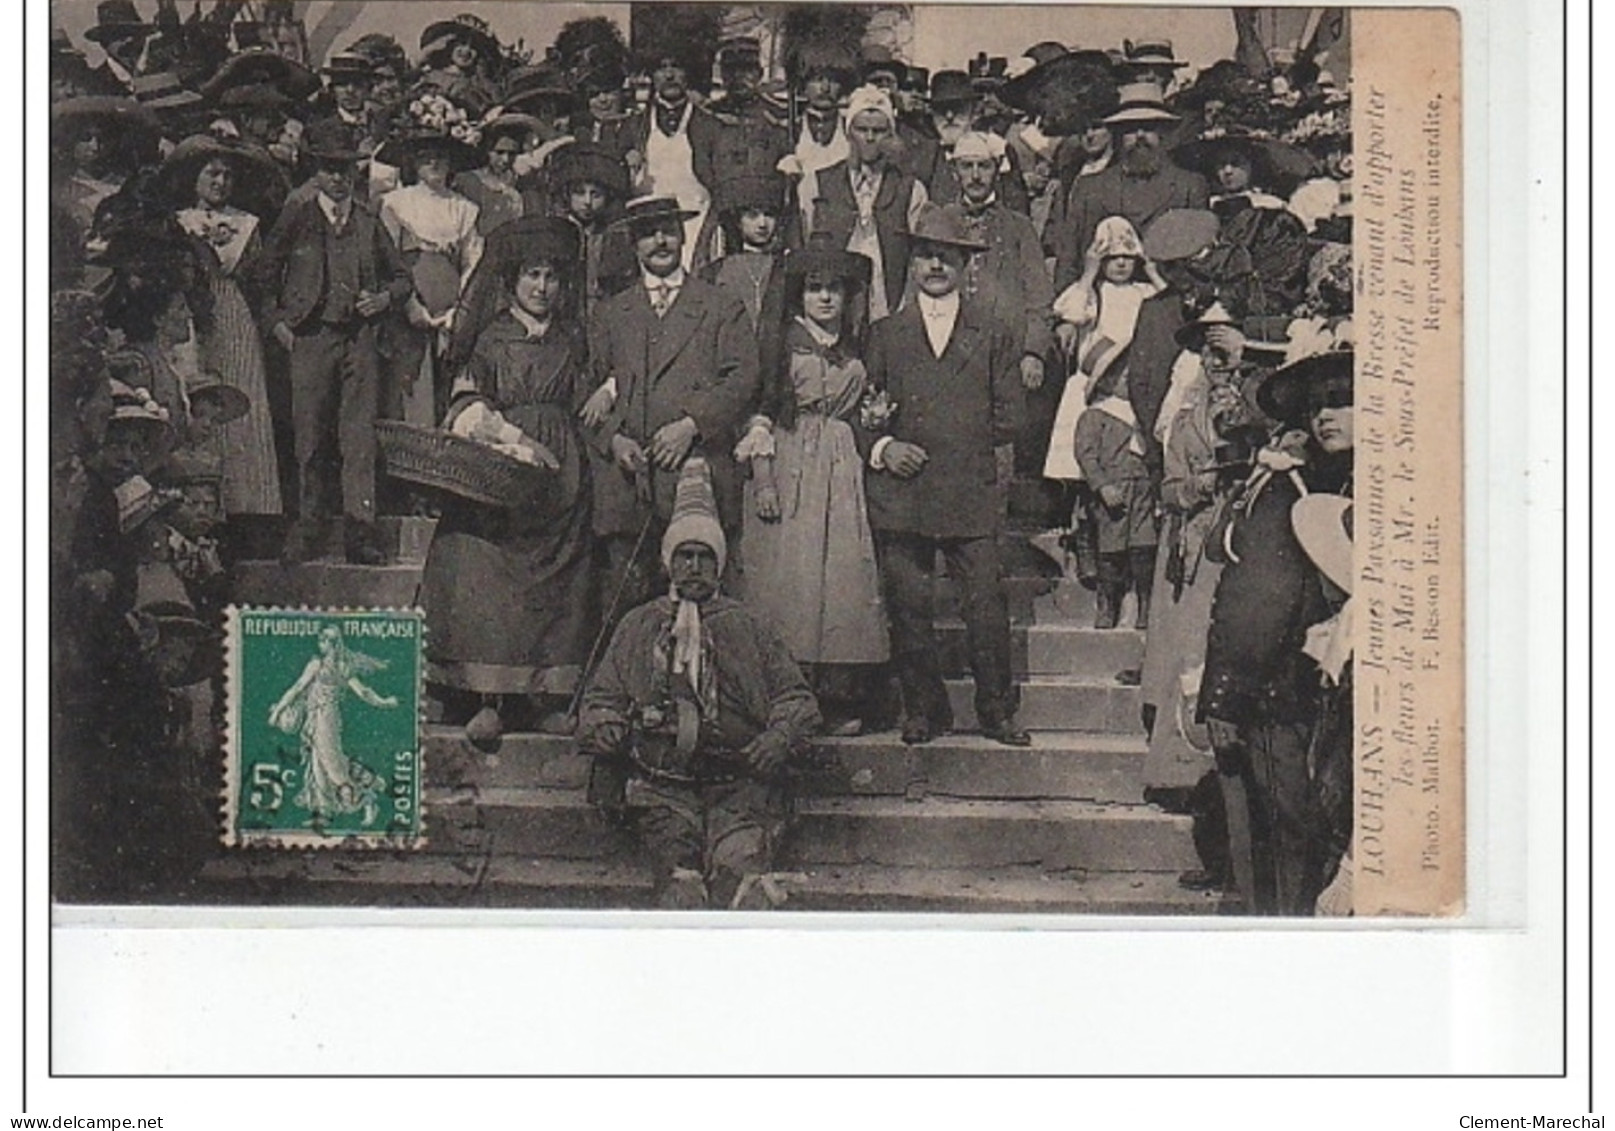
[[[774,443],[777,522],[757,517],[756,480],[746,481],[746,604],[798,662],[885,662],[887,612],[851,425],[804,415]]]

